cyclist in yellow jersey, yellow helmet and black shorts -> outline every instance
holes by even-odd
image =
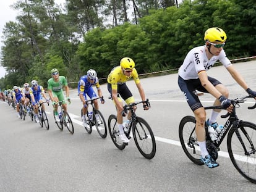
[[[145,101],[145,93],[142,88],[142,85],[139,80],[139,75],[137,70],[134,68],[135,63],[129,57],[124,57],[120,61],[120,66],[115,67],[108,75],[108,91],[111,94],[111,98],[113,99],[114,103],[116,104],[117,109],[117,126],[119,127],[119,136],[124,143],[128,143],[129,139],[124,134],[124,129],[122,126],[122,114],[124,112],[124,108],[122,106],[122,99],[126,101],[127,104],[131,104],[134,102],[134,97],[130,92],[129,88],[126,85],[126,81],[130,78],[133,78],[135,84],[139,90],[140,97],[142,101]],[[121,98],[120,98],[121,96]],[[148,110],[148,104],[145,102],[143,104],[144,110]],[[127,114],[124,114],[127,115]],[[130,112],[127,115],[127,119],[130,119]]]

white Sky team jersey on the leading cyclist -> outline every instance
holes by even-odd
[[[207,49],[206,46],[198,46],[189,51],[179,68],[179,76],[184,80],[197,79],[200,71],[209,70],[218,60],[226,68],[232,65],[223,49],[218,56],[213,56],[210,60],[207,58],[205,49]]]

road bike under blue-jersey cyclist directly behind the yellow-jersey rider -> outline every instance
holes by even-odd
[[[95,109],[93,101],[95,101],[96,99],[103,99],[103,97],[90,99],[86,103],[88,106],[87,114],[86,114],[87,126],[83,126],[83,127],[85,127],[85,130],[87,130],[87,132],[90,134],[92,133],[93,126],[95,126],[101,138],[106,138],[108,133],[107,125],[101,112],[98,109]],[[91,111],[89,111],[89,106],[92,106]],[[82,117],[83,117],[83,109],[81,109],[81,118]]]

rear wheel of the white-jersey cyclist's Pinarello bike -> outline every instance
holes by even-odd
[[[200,161],[201,152],[195,134],[195,117],[183,117],[179,123],[179,140],[187,157],[197,165],[203,165]]]

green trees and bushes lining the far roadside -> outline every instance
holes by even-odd
[[[179,8],[171,6],[174,1],[137,0],[133,19],[125,19],[126,1],[66,2],[64,13],[50,0],[15,3],[21,13],[3,30],[1,65],[8,75],[1,88],[33,79],[46,86],[53,68],[68,81],[78,81],[88,69],[106,78],[122,57],[132,57],[139,73],[177,69],[190,49],[205,43],[210,27],[226,31],[230,59],[256,55],[255,0],[184,0]],[[104,17],[113,24],[103,26]]]

